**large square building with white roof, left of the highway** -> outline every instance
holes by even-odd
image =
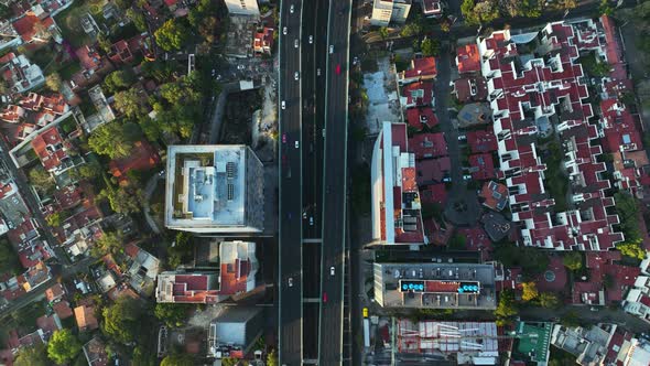
[[[261,233],[263,166],[246,146],[171,146],[165,225],[221,235]]]

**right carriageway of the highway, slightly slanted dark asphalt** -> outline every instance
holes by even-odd
[[[347,195],[347,103],[351,0],[332,1],[325,80],[322,304],[318,365],[343,363],[344,247]],[[333,272],[331,272],[333,271]]]

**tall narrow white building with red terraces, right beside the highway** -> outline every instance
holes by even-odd
[[[415,154],[409,152],[407,125],[383,122],[372,152],[372,244],[423,245]]]

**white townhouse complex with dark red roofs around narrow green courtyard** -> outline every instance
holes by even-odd
[[[624,235],[614,230],[618,216],[606,209],[614,206],[614,198],[605,195],[610,183],[599,173],[607,168],[597,162],[602,149],[592,142],[599,138],[597,127],[587,123],[594,112],[586,101],[582,66],[576,63],[574,29],[563,22],[549,23],[538,40],[540,58],[522,63],[516,63],[521,58],[509,30],[479,40],[481,71],[490,78],[494,131],[500,141],[500,170],[510,191],[512,220],[521,227],[526,246],[608,250],[622,241]],[[541,58],[549,54],[555,57]],[[557,116],[562,121],[556,126],[563,141],[562,164],[572,176],[566,212],[555,212],[555,202],[544,189],[546,165],[538,155],[538,127],[527,118],[531,114],[538,118]]]

